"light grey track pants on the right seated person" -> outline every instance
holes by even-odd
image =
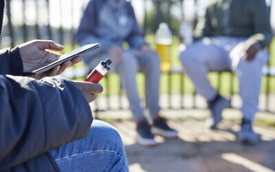
[[[210,86],[208,72],[225,69],[235,72],[243,101],[241,112],[244,118],[253,121],[258,107],[262,68],[267,63],[268,53],[260,50],[254,60],[243,61],[243,42],[246,40],[225,36],[201,39],[186,47],[179,58],[197,91],[207,100],[217,95],[217,91]]]

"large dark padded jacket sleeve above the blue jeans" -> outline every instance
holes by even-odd
[[[92,116],[83,93],[65,78],[0,75],[0,171],[84,138]]]

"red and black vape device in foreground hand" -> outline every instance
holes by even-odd
[[[100,63],[94,68],[94,70],[85,78],[85,81],[90,83],[98,83],[105,74],[110,70],[112,61],[107,58],[106,61],[100,61]]]

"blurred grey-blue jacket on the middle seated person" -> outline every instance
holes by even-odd
[[[130,2],[121,0],[92,0],[80,21],[76,39],[80,45],[100,43],[95,50],[107,52],[113,45],[122,46],[126,41],[131,48],[140,49],[147,44],[137,25]]]

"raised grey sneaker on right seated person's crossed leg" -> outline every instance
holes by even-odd
[[[222,120],[221,112],[226,107],[229,107],[230,101],[223,98],[219,94],[212,101],[208,101],[208,107],[211,112],[211,117],[206,120],[206,126],[211,129],[216,129],[217,124]]]

